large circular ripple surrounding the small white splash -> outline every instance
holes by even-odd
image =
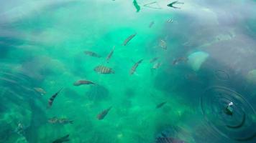
[[[231,102],[232,114],[228,114],[226,107]],[[201,97],[201,109],[211,129],[222,136],[237,141],[256,138],[255,109],[237,92],[225,87],[210,87]]]

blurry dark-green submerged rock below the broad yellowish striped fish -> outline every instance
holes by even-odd
[[[101,85],[91,86],[86,92],[88,99],[93,101],[101,101],[109,97],[109,90]]]

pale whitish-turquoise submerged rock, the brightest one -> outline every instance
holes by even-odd
[[[188,65],[190,65],[194,71],[198,71],[208,56],[209,54],[204,51],[196,51],[188,56]]]

